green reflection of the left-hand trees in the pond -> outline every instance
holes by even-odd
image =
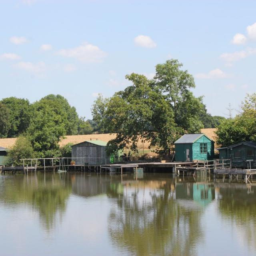
[[[5,178],[0,201],[5,204],[28,203],[38,210],[41,223],[50,230],[66,210],[66,201],[72,191],[65,174],[16,175]]]

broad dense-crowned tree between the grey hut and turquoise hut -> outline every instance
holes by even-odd
[[[179,134],[172,108],[146,76],[132,73],[126,79],[132,86],[110,98],[104,116],[104,126],[111,133],[117,132],[116,138],[108,142],[109,153],[129,143],[136,151],[138,141],[147,140],[150,146],[170,154]]]

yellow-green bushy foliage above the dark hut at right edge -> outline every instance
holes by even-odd
[[[217,143],[230,146],[243,141],[256,142],[256,94],[247,95],[242,112],[233,119],[225,119],[218,126]]]

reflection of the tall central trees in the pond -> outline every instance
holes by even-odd
[[[113,244],[141,256],[196,255],[204,208],[180,203],[175,188],[171,179],[124,182],[122,192],[120,184],[112,186],[108,196],[118,198],[108,225]]]

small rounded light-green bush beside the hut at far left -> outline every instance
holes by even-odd
[[[14,146],[8,151],[5,164],[14,166],[22,165],[22,158],[34,158],[34,150],[30,140],[25,136],[20,136]]]

